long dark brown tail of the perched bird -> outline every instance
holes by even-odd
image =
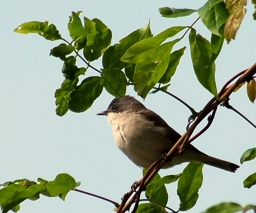
[[[207,164],[207,165],[210,165],[210,166],[220,168],[222,170],[234,172],[234,173],[240,167],[240,166],[236,165],[235,163],[231,163],[231,162],[228,162],[228,161],[223,161],[223,160],[211,157],[211,156],[206,155],[206,154],[204,155],[204,157],[201,157],[200,162],[204,163],[204,164]]]

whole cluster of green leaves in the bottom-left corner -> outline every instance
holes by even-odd
[[[9,210],[17,212],[20,209],[20,203],[29,199],[36,201],[40,198],[40,194],[47,197],[60,197],[65,200],[66,195],[80,183],[76,183],[75,179],[68,174],[62,173],[56,176],[53,181],[47,181],[37,178],[37,182],[28,179],[19,179],[15,181],[5,182],[0,186],[0,206],[2,213]]]

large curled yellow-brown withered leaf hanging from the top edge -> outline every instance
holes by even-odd
[[[244,6],[246,5],[246,2],[247,0],[226,0],[230,16],[225,24],[224,36],[228,43],[231,39],[235,39],[236,32],[244,19],[246,13]]]

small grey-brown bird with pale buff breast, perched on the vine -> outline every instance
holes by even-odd
[[[113,99],[108,109],[97,115],[108,117],[116,146],[133,163],[146,169],[164,153],[168,153],[181,137],[158,114],[129,95]],[[234,163],[204,154],[191,144],[183,153],[173,157],[171,162],[164,164],[163,168],[194,161],[230,172],[239,168]]]

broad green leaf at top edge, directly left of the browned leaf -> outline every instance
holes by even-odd
[[[198,14],[211,33],[219,36],[223,35],[221,26],[226,23],[229,15],[223,1],[213,4],[212,7],[210,7],[209,2],[206,2],[203,7],[198,9]]]

